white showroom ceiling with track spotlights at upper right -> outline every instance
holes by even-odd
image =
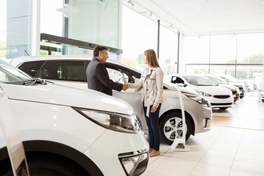
[[[264,32],[264,0],[132,0],[136,12],[186,36]]]

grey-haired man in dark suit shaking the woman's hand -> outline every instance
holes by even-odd
[[[103,65],[108,58],[108,51],[107,47],[100,45],[93,49],[93,59],[87,66],[86,76],[88,89],[112,96],[112,89],[120,92],[122,89],[125,91],[128,87],[109,78],[105,65]]]

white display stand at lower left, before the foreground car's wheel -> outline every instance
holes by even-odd
[[[0,91],[0,110],[0,129],[6,141],[13,174],[29,176],[25,150],[5,91]]]

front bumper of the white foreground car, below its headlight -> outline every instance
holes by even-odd
[[[137,153],[137,151],[142,152]],[[104,176],[124,176],[127,172],[120,159],[126,157],[124,154],[131,153],[134,156],[144,153],[148,155],[135,170],[137,173],[135,176],[145,176],[149,159],[149,144],[143,134],[106,130],[83,154],[97,165]]]

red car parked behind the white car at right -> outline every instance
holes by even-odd
[[[238,101],[240,99],[240,92],[239,92],[239,88],[235,87],[232,84],[228,84],[225,80],[216,77],[214,75],[203,75],[206,78],[209,78],[210,80],[212,80],[213,82],[215,82],[218,85],[221,85],[227,89],[229,89],[230,91],[232,91],[233,93],[233,97],[234,97],[234,102]]]

